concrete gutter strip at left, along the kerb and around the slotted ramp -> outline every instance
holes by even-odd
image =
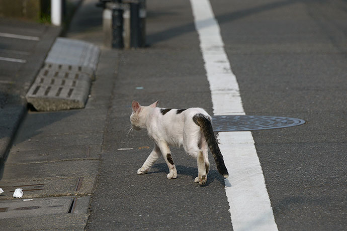
[[[67,37],[70,37],[70,31],[78,31],[75,36],[85,36],[85,41],[89,42],[90,38],[94,44],[101,45],[102,9],[95,7],[95,2],[84,1],[80,5]],[[93,21],[92,24],[83,21],[86,17]],[[80,24],[80,21],[83,22]],[[13,87],[22,100],[7,103],[1,109],[1,113],[7,114],[6,117],[1,114],[0,118],[9,118],[13,122],[10,128],[8,121],[1,120],[7,127],[1,126],[0,129],[9,131],[0,131],[2,136],[6,135],[0,137],[3,159],[11,147],[11,138],[19,121],[26,114],[26,103],[23,100],[25,93],[60,33],[60,28],[45,27],[44,33],[39,35],[40,41],[37,42],[35,52],[21,69],[20,73],[25,73],[25,84],[23,78],[18,78],[19,81]],[[0,208],[4,210],[0,213],[2,229],[84,230],[90,196],[99,170],[116,59],[117,52],[102,51],[97,80],[92,85],[91,97],[84,109],[29,111],[26,114],[9,150],[5,167],[2,168],[0,188],[5,191],[0,196]],[[14,106],[19,109],[12,109]],[[15,188],[23,189],[22,198],[13,198]]]

